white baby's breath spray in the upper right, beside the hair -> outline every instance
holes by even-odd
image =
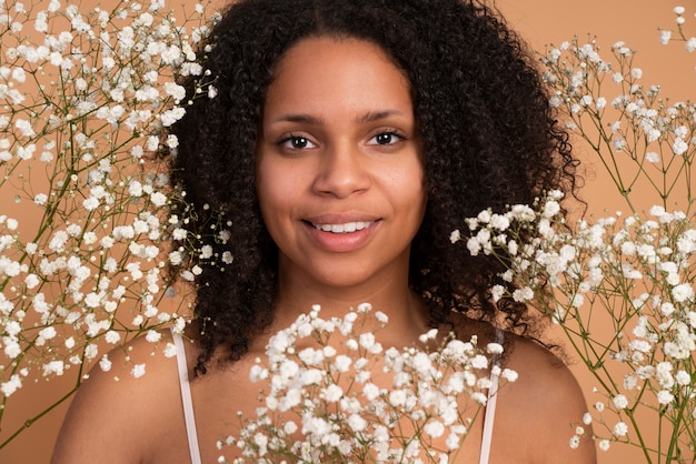
[[[679,36],[693,51],[696,38],[684,34],[684,9],[675,12],[682,20]],[[668,36],[663,31],[663,42]],[[637,212],[635,192],[652,191],[663,208],[672,209],[668,196],[690,183],[696,104],[670,103],[660,97],[659,85],[644,85],[643,70],[634,65],[635,51],[624,42],[612,47],[609,60],[600,52],[595,39],[583,43],[577,37],[548,48],[541,63],[550,105],[568,117],[567,128],[598,154],[632,212]],[[690,205],[690,191],[686,196]]]

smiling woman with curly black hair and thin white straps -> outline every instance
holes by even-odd
[[[486,208],[575,189],[567,134],[503,20],[460,0],[246,0],[229,7],[210,37],[203,65],[218,95],[196,99],[200,82],[189,82],[192,103],[172,131],[172,179],[198,219],[188,231],[198,250],[189,260],[200,269],[196,320],[185,337],[165,335],[179,346],[176,359],[150,356],[142,340],[127,356],[113,353],[112,363],[147,359],[145,377],[117,383],[95,371],[53,462],[215,462],[216,442],[243,432],[233,417],[259,410],[248,372],[266,379],[257,359],[267,345],[288,355],[301,349],[311,364],[354,346],[427,350],[448,333],[506,353],[490,369],[474,363],[486,373],[477,384],[487,396],[459,401],[487,404],[486,413],[461,424],[461,444],[447,438],[460,451],[443,452],[450,462],[594,462],[591,443],[568,446],[570,423],[585,411],[575,380],[534,342],[538,323],[524,305],[493,301],[500,263],[447,240]],[[211,234],[211,223],[229,230]],[[365,302],[380,312],[359,343],[341,330],[346,339],[330,350],[321,340],[296,350],[282,331],[305,316],[321,325],[317,305],[339,320]],[[389,330],[375,336],[382,319]],[[391,357],[377,356],[368,372],[375,397],[389,387]],[[414,360],[428,372],[429,357]],[[287,381],[297,364],[284,365]],[[501,366],[520,379],[496,394]],[[267,386],[271,393],[287,386],[282,379]],[[327,386],[320,400],[350,403],[356,382]],[[402,391],[392,393],[384,395],[405,411]],[[276,407],[268,399],[262,405]],[[354,431],[367,427],[358,418],[348,420]],[[391,428],[408,435],[401,420],[412,418],[397,415]],[[304,423],[301,433],[330,432],[315,425]],[[439,437],[438,425],[424,433]],[[415,455],[432,460],[443,446]]]

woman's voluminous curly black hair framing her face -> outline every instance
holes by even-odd
[[[530,334],[524,305],[491,302],[500,264],[448,240],[484,209],[531,204],[550,189],[575,192],[568,135],[530,53],[504,20],[476,0],[242,0],[210,36],[203,65],[217,97],[195,99],[173,128],[172,181],[199,214],[189,229],[216,256],[233,256],[225,272],[201,265],[197,276],[196,372],[206,372],[221,345],[229,360],[240,359],[272,321],[278,251],[257,200],[256,141],[276,63],[302,38],[318,36],[376,43],[408,77],[428,188],[409,284],[429,301],[431,323],[457,309]],[[188,90],[196,85],[191,80]],[[203,230],[213,214],[231,223],[223,243]]]

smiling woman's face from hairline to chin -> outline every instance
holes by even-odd
[[[342,288],[407,275],[422,161],[409,83],[379,47],[322,37],[290,48],[257,153],[281,281]]]

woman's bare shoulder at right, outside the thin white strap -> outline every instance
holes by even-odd
[[[567,365],[543,346],[515,336],[506,367],[519,374],[500,391],[499,414],[506,417],[500,426],[509,434],[508,442],[515,441],[510,427],[517,427],[517,440],[523,440],[516,446],[526,451],[529,462],[595,463],[591,441],[586,438],[575,450],[569,444],[576,426],[583,425],[587,404]],[[526,431],[524,436],[519,428]]]

